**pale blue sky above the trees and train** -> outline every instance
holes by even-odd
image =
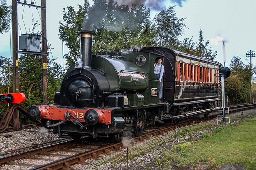
[[[41,0],[33,0],[40,6]],[[192,38],[193,42],[198,42],[199,30],[202,28],[204,40],[211,40],[220,36],[224,38],[226,63],[228,66],[233,56],[238,55],[244,64],[248,65],[246,60],[246,51],[256,50],[256,1],[255,0],[130,0],[132,2],[144,3],[150,8],[151,18],[159,13],[162,8],[176,5],[175,12],[178,18],[186,18],[184,24],[184,38]],[[23,2],[21,0],[21,2]],[[29,4],[31,0],[27,0]],[[89,0],[93,4],[92,0]],[[128,2],[128,0],[118,0],[118,3]],[[7,0],[11,4],[11,0]],[[46,0],[46,24],[48,43],[51,44],[50,58],[57,58],[56,62],[62,65],[62,41],[59,39],[59,22],[62,21],[63,8],[73,6],[76,10],[78,4],[84,4],[84,0]],[[32,19],[40,21],[40,8],[32,8],[18,4],[18,36],[29,33],[31,30]],[[37,27],[39,30],[41,26]],[[12,57],[10,52],[11,32],[0,34],[0,56]],[[217,51],[216,61],[224,65],[223,42],[218,44],[210,43],[214,51]],[[12,50],[12,47],[11,47]],[[67,53],[68,48],[63,48],[63,53]],[[255,64],[256,57],[252,58],[252,64]],[[65,65],[64,61],[64,65]]]

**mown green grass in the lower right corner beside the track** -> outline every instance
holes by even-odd
[[[256,170],[256,117],[204,134],[192,144],[177,145],[170,154],[175,158],[169,160],[180,166],[196,167],[201,162],[216,169],[223,164],[243,164],[246,170]]]

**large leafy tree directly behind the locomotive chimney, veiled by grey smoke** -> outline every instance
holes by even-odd
[[[127,49],[132,46],[151,45],[150,10],[143,4],[133,5],[131,9],[118,5],[114,0],[94,0],[89,6],[78,5],[78,12],[69,6],[64,9],[60,22],[60,39],[66,41],[70,52],[65,55],[68,65],[79,55],[78,31],[94,31],[92,52]],[[83,22],[82,19],[84,18]]]

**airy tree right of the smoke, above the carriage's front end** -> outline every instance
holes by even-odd
[[[178,49],[180,44],[179,37],[183,34],[183,24],[185,18],[178,19],[174,12],[175,6],[169,6],[168,9],[163,9],[153,19],[153,29],[156,37],[153,40],[158,46],[166,46]]]

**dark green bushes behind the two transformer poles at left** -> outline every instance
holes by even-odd
[[[0,68],[0,93],[12,93],[12,62],[10,59],[3,58],[3,66]],[[22,106],[28,107],[35,104],[42,104],[42,59],[39,55],[20,55],[19,57],[19,92],[24,93],[26,101]],[[50,68],[51,66],[51,68]],[[63,79],[62,67],[54,63],[54,60],[48,62],[48,89],[47,96],[50,103],[54,101],[54,93],[60,91],[60,84]],[[0,105],[0,111],[3,115],[7,105]],[[24,115],[20,114],[21,123],[28,123]]]

